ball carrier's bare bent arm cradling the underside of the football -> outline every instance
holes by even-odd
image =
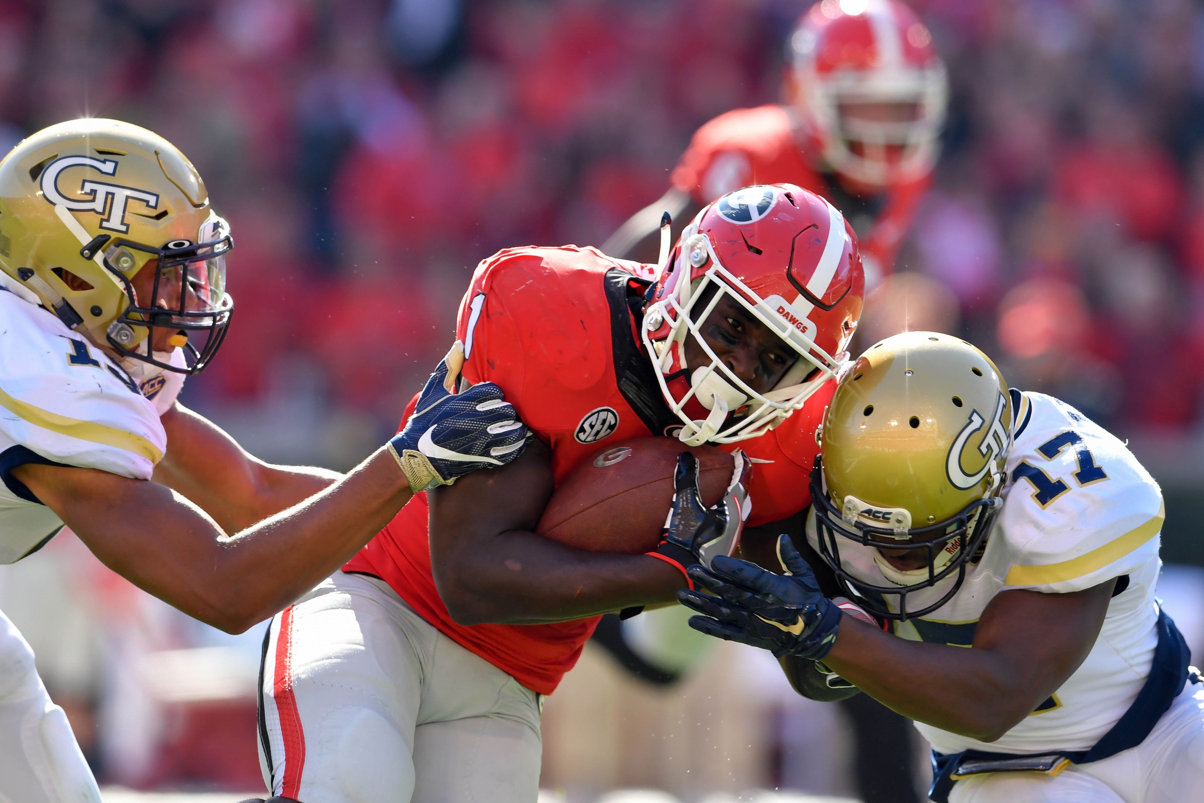
[[[671,602],[681,572],[647,555],[588,553],[532,532],[551,496],[551,451],[533,441],[513,465],[430,494],[431,566],[462,625],[568,621]]]

